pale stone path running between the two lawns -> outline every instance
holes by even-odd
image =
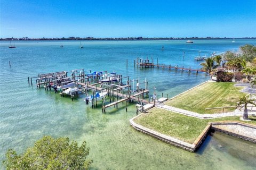
[[[167,111],[187,115],[187,116],[192,116],[192,117],[197,117],[197,118],[202,118],[202,119],[209,119],[209,118],[219,118],[219,117],[228,117],[228,116],[242,116],[243,111],[236,110],[234,112],[227,112],[227,113],[215,113],[215,114],[199,114],[191,111],[186,111],[184,109],[180,109],[177,107],[172,107],[172,106],[167,106],[167,105],[156,105],[158,108],[165,109]],[[248,112],[250,115],[255,115],[255,112]]]

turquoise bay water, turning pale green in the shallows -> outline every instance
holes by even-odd
[[[194,44],[180,41],[17,41],[10,49],[9,42],[1,41],[0,75],[0,160],[8,148],[18,152],[42,138],[69,137],[82,143],[87,141],[92,169],[253,169],[256,156],[253,143],[221,133],[208,137],[196,154],[167,145],[135,131],[129,124],[135,116],[135,106],[120,105],[106,109],[92,109],[85,105],[83,95],[71,101],[35,83],[29,86],[27,77],[38,73],[91,69],[115,71],[131,79],[149,81],[151,94],[175,96],[182,91],[209,80],[205,74],[174,72],[162,69],[140,69],[133,66],[137,57],[151,58],[154,62],[197,68],[194,57],[209,56],[237,50],[255,40],[195,40]],[[162,46],[164,50],[162,51]],[[185,60],[183,60],[185,52]],[[126,67],[128,60],[128,67]],[[9,61],[11,67],[9,67]],[[227,142],[228,141],[228,142]],[[229,142],[231,141],[231,142]],[[228,145],[230,143],[230,145]],[[239,145],[236,145],[239,143]],[[1,167],[1,166],[0,166]]]

